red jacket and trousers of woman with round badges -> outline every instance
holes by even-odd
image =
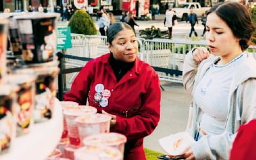
[[[150,65],[136,58],[131,70],[117,83],[109,64],[109,56],[110,54],[104,54],[86,63],[74,80],[70,92],[64,95],[64,99],[79,104],[86,104],[88,99],[89,105],[97,108],[98,113],[103,109],[116,115],[116,125],[111,127],[110,131],[127,137],[125,152],[129,154],[132,148],[142,146],[143,138],[151,134],[159,122],[159,77]],[[103,84],[104,89],[111,92],[106,107],[101,107],[94,99],[97,84]],[[143,147],[139,148],[142,149],[140,154],[143,154]],[[134,155],[134,159],[138,157],[140,156]]]

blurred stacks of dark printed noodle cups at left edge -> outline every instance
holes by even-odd
[[[59,16],[0,13],[0,156],[12,148],[13,138],[28,134],[34,122],[54,115]]]

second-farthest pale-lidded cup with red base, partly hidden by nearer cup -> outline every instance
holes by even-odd
[[[67,121],[68,139],[70,145],[73,147],[79,147],[81,141],[79,139],[79,132],[76,124],[76,118],[78,116],[90,116],[97,113],[97,109],[92,106],[80,106],[78,108],[67,108],[64,110],[64,115]]]

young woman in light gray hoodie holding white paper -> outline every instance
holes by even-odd
[[[240,125],[256,118],[256,60],[246,52],[255,27],[239,3],[207,13],[209,51],[198,47],[184,61],[183,83],[193,97],[188,131],[195,138],[185,159],[229,159]]]

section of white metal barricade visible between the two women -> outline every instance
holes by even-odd
[[[186,54],[193,47],[207,45],[204,41],[184,41],[169,39],[145,40],[142,60],[154,67],[169,68],[182,71]],[[182,83],[182,76],[158,72],[159,78],[163,81]]]

